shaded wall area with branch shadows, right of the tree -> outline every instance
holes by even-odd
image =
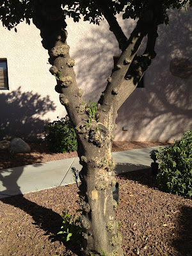
[[[136,88],[118,111],[116,138],[173,141],[192,127],[190,79],[173,76],[170,61],[190,56],[191,10],[170,13],[170,26],[159,26],[157,56],[148,68],[145,88]],[[128,131],[122,127],[128,126]],[[128,135],[127,135],[128,134]]]

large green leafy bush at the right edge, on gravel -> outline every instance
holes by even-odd
[[[157,182],[163,191],[191,198],[192,195],[192,130],[168,148],[160,148]]]

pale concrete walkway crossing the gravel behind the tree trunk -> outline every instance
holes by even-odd
[[[148,168],[152,163],[150,151],[157,148],[113,152],[115,172],[125,173]],[[0,170],[0,199],[72,184],[72,167],[81,170],[78,157]]]

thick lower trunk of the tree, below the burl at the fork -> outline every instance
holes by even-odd
[[[89,149],[89,153],[81,156],[80,160],[83,164],[79,187],[84,199],[81,216],[83,255],[122,256],[122,236],[114,216],[117,203],[112,193],[116,184],[115,163],[109,150],[104,154],[104,148],[89,145]]]

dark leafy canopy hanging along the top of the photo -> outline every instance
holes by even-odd
[[[51,0],[42,0],[45,3]],[[12,29],[20,22],[26,20],[26,23],[30,24],[30,19],[35,17],[34,3],[36,0],[0,0],[0,20],[3,22],[3,26],[8,29]],[[90,23],[98,24],[103,19],[102,7],[108,10],[108,13],[116,15],[122,13],[123,19],[139,19],[142,17],[146,10],[150,10],[150,4],[152,0],[61,0],[61,2],[55,2],[55,4],[61,4],[64,17],[72,17],[74,22],[78,22],[83,18],[84,21],[88,20]],[[192,6],[192,0],[157,0],[156,1],[157,12],[159,6],[163,13],[161,17],[168,24],[167,10],[170,8],[186,8]],[[58,8],[58,6],[56,6]],[[17,29],[15,29],[17,31]]]

